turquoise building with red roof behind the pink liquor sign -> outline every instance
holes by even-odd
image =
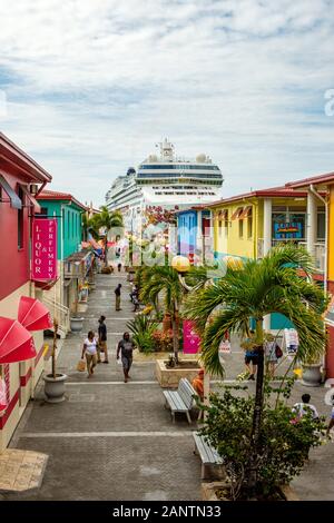
[[[82,214],[87,207],[72,195],[43,190],[38,196],[41,217],[56,217],[58,221],[58,274],[57,284],[45,292],[43,300],[58,317],[60,333],[69,329],[69,315],[85,309],[88,294],[87,277],[94,253],[81,249]]]

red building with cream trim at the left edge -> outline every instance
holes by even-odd
[[[0,316],[17,318],[21,296],[40,297],[30,276],[31,226],[40,213],[38,193],[51,176],[0,132]],[[37,356],[22,363],[0,365],[8,407],[0,414],[0,452],[23,414],[43,369],[43,336],[33,333]]]

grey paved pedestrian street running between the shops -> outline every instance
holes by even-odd
[[[122,284],[121,310],[115,312],[114,288]],[[200,500],[200,463],[194,455],[186,417],[171,423],[155,377],[155,361],[135,361],[125,384],[116,363],[116,344],[132,317],[126,275],[97,275],[89,297],[85,327],[63,343],[57,368],[68,375],[67,398],[43,401],[42,382],[12,438],[11,448],[48,455],[39,487],[0,492],[2,500]],[[99,364],[91,379],[77,372],[82,341],[107,317],[109,365]],[[228,359],[229,358],[229,359]],[[228,356],[226,379],[244,369],[237,344]],[[216,381],[213,387],[217,388]],[[250,383],[249,387],[254,387]],[[305,391],[296,384],[292,401]],[[308,391],[307,391],[308,392]],[[312,388],[312,403],[328,415],[324,389]],[[302,500],[331,500],[334,485],[333,443],[311,453],[311,461],[293,486]]]

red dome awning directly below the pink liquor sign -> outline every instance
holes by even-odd
[[[38,299],[21,296],[18,319],[27,330],[43,330],[52,327],[49,309]]]

